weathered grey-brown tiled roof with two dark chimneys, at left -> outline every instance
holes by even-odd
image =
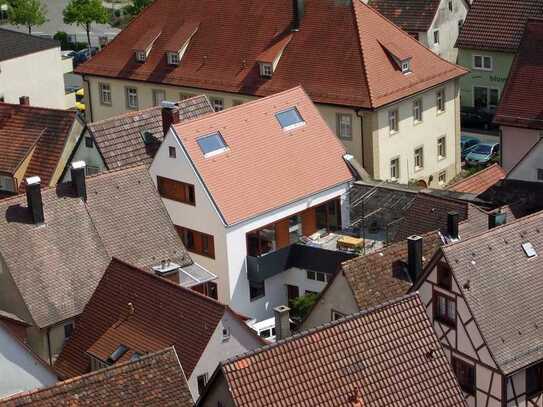
[[[0,256],[40,328],[79,315],[113,256],[148,271],[168,258],[192,263],[146,167],[86,183],[85,203],[71,184],[43,189],[44,225],[25,196],[0,201]]]

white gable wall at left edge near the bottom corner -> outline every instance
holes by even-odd
[[[0,398],[56,381],[53,372],[0,325]]]

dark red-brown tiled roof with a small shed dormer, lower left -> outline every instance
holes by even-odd
[[[113,259],[55,368],[71,377],[89,370],[89,354],[106,362],[122,344],[126,360],[173,345],[190,377],[225,312],[226,305]]]

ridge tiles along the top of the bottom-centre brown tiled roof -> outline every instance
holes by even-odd
[[[336,325],[339,325],[339,324],[341,324],[341,323],[343,323],[345,321],[350,321],[350,320],[353,320],[353,319],[364,317],[364,316],[366,316],[368,314],[371,314],[373,312],[380,311],[383,308],[391,307],[391,306],[396,305],[396,304],[398,304],[400,302],[411,300],[413,298],[420,299],[418,292],[412,292],[412,293],[402,295],[401,297],[397,297],[397,298],[394,298],[392,300],[385,301],[385,302],[383,302],[383,303],[381,303],[379,305],[366,308],[364,310],[361,310],[361,311],[355,312],[353,314],[347,315],[347,316],[345,316],[343,318],[340,318],[340,319],[337,319],[335,321],[326,322],[324,324],[321,324],[321,325],[315,326],[313,328],[310,328],[310,329],[308,329],[306,331],[298,332],[298,333],[296,333],[296,334],[294,334],[292,336],[289,336],[288,338],[281,339],[281,340],[279,340],[277,342],[271,343],[271,344],[263,346],[261,348],[241,353],[241,354],[239,354],[237,356],[234,356],[232,358],[221,361],[220,366],[222,367],[224,365],[236,362],[236,361],[238,361],[240,359],[244,359],[244,358],[252,356],[252,355],[256,355],[256,354],[259,354],[259,353],[262,353],[262,352],[266,352],[266,351],[268,351],[270,349],[276,348],[276,347],[281,346],[281,345],[283,345],[285,343],[289,343],[289,342],[295,341],[295,340],[297,340],[299,338],[310,336],[310,335],[314,334],[315,332],[319,332],[319,331],[322,331],[324,329],[332,328],[332,327],[334,327]]]

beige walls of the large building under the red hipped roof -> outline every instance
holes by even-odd
[[[169,85],[155,85],[148,82],[124,81],[118,79],[85,77],[90,84],[86,90],[86,97],[90,97],[89,111],[92,121],[103,120],[129,111],[126,104],[126,88],[135,87],[138,94],[138,109],[153,106],[154,90],[165,92],[167,100],[178,100],[180,97],[206,94],[213,102],[220,99],[224,108],[229,108],[255,99],[255,97],[215,92],[195,88],[185,88]],[[101,103],[99,84],[105,83],[111,89],[111,105]],[[436,113],[436,89],[423,92],[417,97],[423,98],[423,122],[413,123],[413,98],[402,100],[394,105],[381,108],[377,111],[363,111],[349,107],[325,105],[317,103],[317,107],[332,131],[337,135],[337,115],[350,114],[352,117],[352,137],[341,139],[346,150],[376,179],[390,179],[390,160],[401,156],[401,176],[399,182],[407,183],[410,180],[424,179],[432,187],[440,187],[439,173],[446,172],[447,181],[452,179],[460,170],[460,126],[458,101],[458,87],[456,81],[444,85],[446,91],[446,110]],[[90,95],[90,96],[89,96]],[[391,136],[388,128],[389,110],[398,109],[400,112],[400,131]],[[437,159],[437,139],[441,135],[447,136],[447,157]],[[424,168],[415,173],[413,169],[414,149],[424,146]]]

